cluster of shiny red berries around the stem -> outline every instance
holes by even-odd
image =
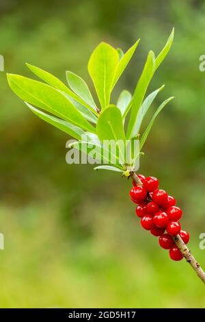
[[[182,210],[175,206],[174,197],[158,188],[159,181],[156,177],[137,176],[142,186],[137,186],[133,180],[130,195],[132,201],[138,204],[136,214],[141,218],[141,226],[145,230],[150,230],[152,235],[159,236],[159,245],[169,249],[172,260],[181,260],[182,253],[176,247],[172,237],[179,234],[185,244],[189,243],[189,233],[181,230],[180,227],[179,219],[182,216]]]

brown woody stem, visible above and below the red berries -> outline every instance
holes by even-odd
[[[138,186],[143,185],[141,180],[139,179],[139,177],[137,177],[135,172],[131,172],[131,177],[133,178],[133,180],[135,180],[135,182]],[[180,249],[185,260],[187,260],[187,262],[189,262],[191,267],[194,269],[195,273],[197,273],[197,276],[200,277],[202,282],[205,284],[205,273],[204,273],[202,267],[200,266],[200,264],[195,260],[195,258],[191,254],[191,251],[189,250],[187,245],[184,244],[182,238],[179,235],[176,235],[173,237],[173,240],[174,240],[174,243],[176,244],[176,246],[178,247],[178,249]]]

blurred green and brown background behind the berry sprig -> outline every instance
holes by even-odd
[[[0,1],[5,72],[31,76],[29,62],[66,82],[65,71],[92,88],[87,61],[102,40],[126,50],[141,42],[113,92],[133,91],[149,49],[172,30],[174,45],[149,91],[176,99],[157,119],[140,173],[159,177],[184,211],[190,248],[205,267],[204,1]],[[35,77],[34,77],[35,78]],[[24,106],[0,73],[1,308],[200,308],[204,285],[185,262],[172,262],[141,229],[118,173],[68,165],[68,136]],[[156,104],[150,113],[156,109]],[[148,115],[148,119],[151,114]]]

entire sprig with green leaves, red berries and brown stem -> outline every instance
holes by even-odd
[[[92,157],[102,163],[95,169],[118,171],[125,177],[132,177],[133,188],[130,194],[132,201],[138,205],[136,214],[141,218],[142,227],[150,230],[154,236],[159,236],[159,245],[169,249],[172,260],[181,260],[184,257],[205,283],[204,271],[187,248],[189,234],[180,228],[182,210],[176,207],[174,197],[159,189],[159,182],[155,177],[144,177],[135,173],[137,160],[143,154],[141,150],[156,116],[174,98],[169,97],[161,103],[141,134],[143,118],[164,86],[145,98],[147,88],[156,69],[172,47],[173,39],[174,29],[159,55],[155,57],[153,51],[148,53],[133,95],[123,90],[115,104],[111,103],[111,92],[135,53],[139,40],[126,53],[105,42],[101,42],[92,53],[88,72],[94,83],[98,103],[94,101],[84,80],[70,71],[66,72],[66,86],[50,73],[27,64],[44,82],[8,74],[8,83],[34,114],[75,138],[77,141],[73,143],[73,147],[86,151],[87,154],[90,153],[91,146],[95,147],[96,153]],[[114,162],[113,150],[108,148],[107,151],[103,144],[105,140],[116,143]],[[127,141],[131,142],[131,158],[128,160],[121,158],[124,157],[124,151],[119,144],[123,142],[127,146]],[[139,143],[137,153],[133,149],[135,142]],[[102,162],[105,155],[106,164]]]

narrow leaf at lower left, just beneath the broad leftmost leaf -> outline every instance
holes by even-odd
[[[57,117],[52,116],[50,114],[46,114],[46,113],[42,112],[41,110],[34,108],[33,106],[31,106],[31,104],[29,104],[27,102],[25,102],[25,103],[34,114],[36,114],[38,117],[40,117],[40,119],[57,127],[58,129],[69,134],[73,138],[77,138],[77,140],[81,140],[81,135],[85,132],[80,127],[74,126],[71,123],[63,121],[61,119],[58,119]]]

